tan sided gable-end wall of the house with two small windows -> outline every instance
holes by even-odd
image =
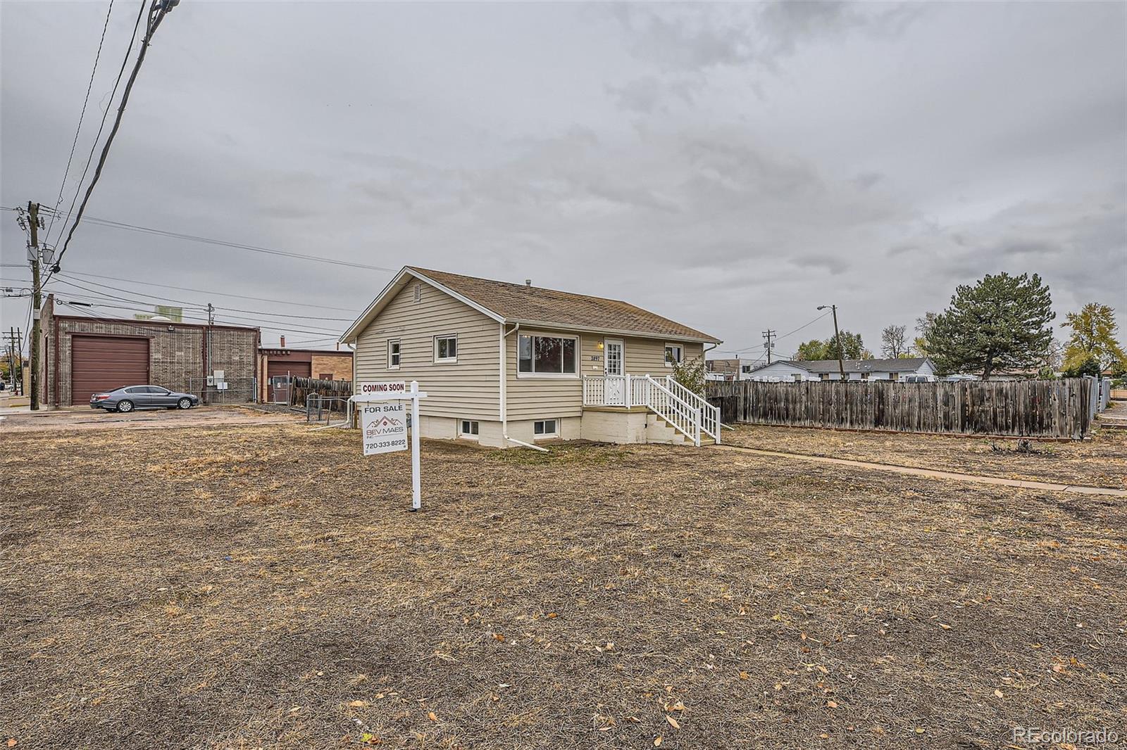
[[[415,302],[415,285],[421,300]],[[458,361],[434,363],[434,337],[458,336]],[[424,282],[411,280],[356,340],[356,382],[419,382],[427,417],[500,419],[499,323]],[[388,368],[388,340],[400,339],[399,369]],[[420,435],[425,432],[420,431]]]

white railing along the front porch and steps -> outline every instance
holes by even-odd
[[[585,407],[646,407],[694,445],[701,435],[720,443],[720,410],[673,380],[650,375],[584,375]]]

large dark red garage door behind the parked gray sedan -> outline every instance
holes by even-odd
[[[149,382],[149,339],[133,336],[71,337],[71,403],[123,385]]]

